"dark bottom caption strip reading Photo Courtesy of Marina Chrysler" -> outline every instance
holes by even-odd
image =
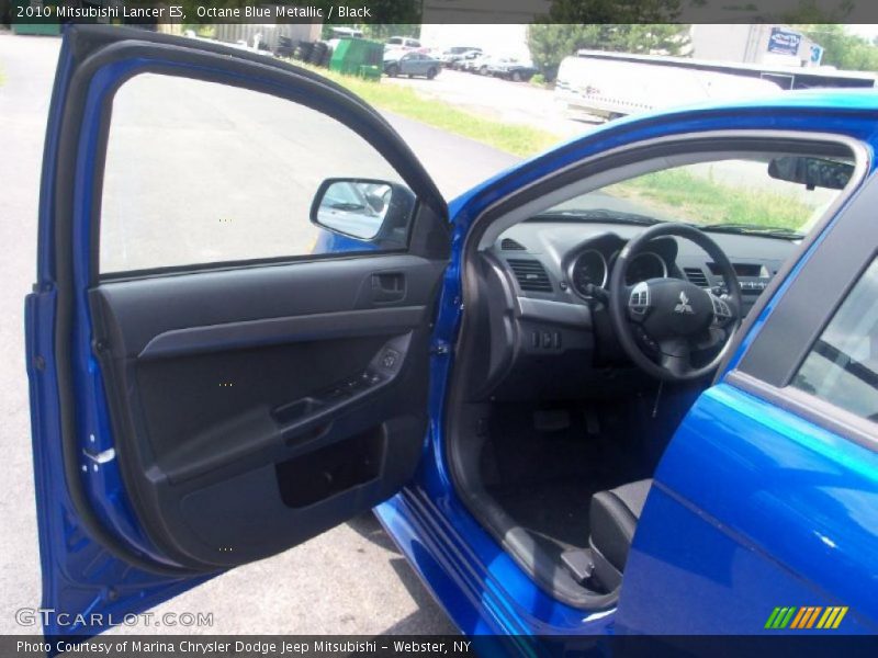
[[[654,658],[664,656],[873,657],[878,636],[295,636],[102,635],[0,636],[0,656],[83,658],[277,658],[288,656],[551,656]]]

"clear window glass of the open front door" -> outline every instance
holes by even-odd
[[[320,112],[236,87],[137,76],[113,101],[100,271],[313,253],[322,229],[311,206],[328,178],[402,182],[374,147]]]

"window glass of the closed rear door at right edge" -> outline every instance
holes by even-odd
[[[878,421],[878,259],[842,303],[791,385]]]

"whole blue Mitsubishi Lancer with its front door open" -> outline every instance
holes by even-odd
[[[777,655],[751,636],[878,628],[878,94],[620,120],[447,203],[315,73],[124,27],[64,38],[24,314],[46,634],[99,633],[371,508],[453,623],[509,651],[611,635],[716,655],[734,635]],[[318,113],[294,184],[335,161],[356,186],[359,136],[401,182],[351,203],[391,188],[403,246],[335,232],[322,185],[319,258],[217,237],[227,258],[108,270],[101,186],[133,166],[104,157],[108,109],[161,71]],[[190,173],[175,231],[214,172]],[[416,203],[393,209],[394,184]]]

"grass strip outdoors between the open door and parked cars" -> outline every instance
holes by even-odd
[[[294,64],[302,66],[301,61]],[[492,121],[451,103],[424,98],[409,87],[342,76],[323,68],[305,68],[341,84],[375,107],[524,158],[543,151],[561,140],[558,135],[547,131]]]

